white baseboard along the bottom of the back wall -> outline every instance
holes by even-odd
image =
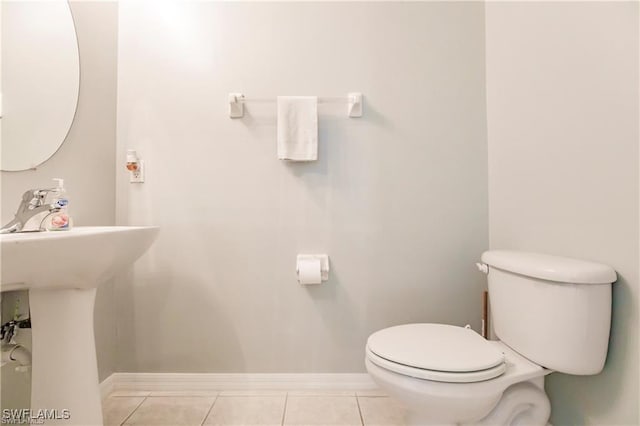
[[[113,373],[100,384],[114,391],[368,390],[368,374]]]

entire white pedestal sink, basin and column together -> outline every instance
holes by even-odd
[[[102,425],[96,289],[147,251],[157,234],[157,227],[104,226],[0,235],[0,291],[29,290],[32,413],[69,413],[47,424]]]

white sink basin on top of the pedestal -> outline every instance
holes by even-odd
[[[0,234],[0,291],[97,287],[138,259],[157,234],[151,226]]]

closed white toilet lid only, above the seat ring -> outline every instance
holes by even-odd
[[[369,336],[375,355],[409,367],[451,373],[492,369],[504,354],[471,329],[446,324],[405,324]]]

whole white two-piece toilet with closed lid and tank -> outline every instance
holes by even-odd
[[[537,253],[482,254],[499,340],[470,327],[404,324],[369,336],[369,375],[415,425],[546,425],[544,376],[602,371],[615,271]]]

